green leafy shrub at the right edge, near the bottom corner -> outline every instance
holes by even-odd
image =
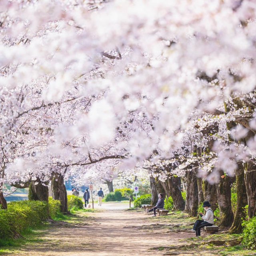
[[[242,244],[250,250],[256,249],[256,216],[248,221],[244,221],[243,224],[243,240]]]

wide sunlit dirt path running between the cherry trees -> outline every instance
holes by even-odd
[[[26,244],[11,255],[163,255],[161,251],[148,249],[175,245],[178,244],[178,239],[192,236],[187,232],[162,233],[161,230],[151,229],[152,224],[159,220],[134,210],[103,210],[84,214],[89,217],[82,216],[82,222],[72,222],[67,226],[56,226],[44,230],[38,237],[38,242]],[[166,223],[168,223],[167,220]]]

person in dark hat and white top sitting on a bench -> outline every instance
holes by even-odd
[[[192,232],[196,232],[196,236],[201,235],[201,228],[206,227],[206,226],[212,226],[213,225],[213,211],[210,207],[210,203],[208,201],[205,201],[203,203],[203,208],[206,211],[206,214],[202,214],[199,212],[198,214],[201,216],[202,220],[196,220],[194,227],[192,228]]]

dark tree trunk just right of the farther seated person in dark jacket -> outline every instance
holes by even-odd
[[[166,195],[172,196],[173,210],[183,211],[185,208],[185,204],[181,194],[180,177],[168,176],[167,180],[162,183],[167,185],[163,186],[164,188],[166,187]]]

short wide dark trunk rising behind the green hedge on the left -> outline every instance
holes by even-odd
[[[35,185],[36,182],[38,184]],[[39,178],[36,181],[32,181],[29,185],[28,199],[48,202],[48,186],[42,185]]]

